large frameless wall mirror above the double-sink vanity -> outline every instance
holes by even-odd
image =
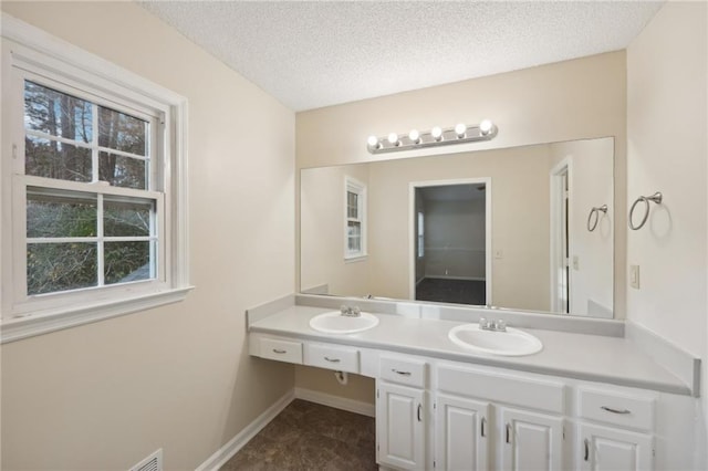
[[[613,317],[614,139],[301,170],[301,292]]]

